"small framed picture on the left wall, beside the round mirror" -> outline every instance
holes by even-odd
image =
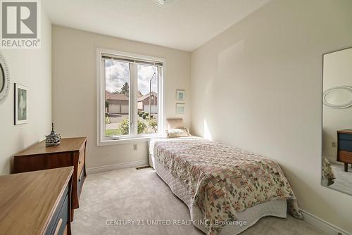
[[[15,125],[27,123],[27,87],[15,83]]]

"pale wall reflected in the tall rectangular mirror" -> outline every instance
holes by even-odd
[[[324,56],[323,91],[336,86],[352,87],[352,49],[329,53]],[[352,107],[322,107],[322,154],[336,163],[338,129],[352,128]]]

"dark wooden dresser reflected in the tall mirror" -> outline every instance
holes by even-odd
[[[345,164],[347,172],[348,163],[352,164],[352,129],[337,131],[337,161]]]

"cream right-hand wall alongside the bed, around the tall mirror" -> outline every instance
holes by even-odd
[[[272,0],[191,53],[191,131],[282,165],[303,210],[352,232],[320,186],[322,54],[352,46],[352,1]]]

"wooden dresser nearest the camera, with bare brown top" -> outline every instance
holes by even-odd
[[[0,176],[0,234],[71,234],[73,167]]]

